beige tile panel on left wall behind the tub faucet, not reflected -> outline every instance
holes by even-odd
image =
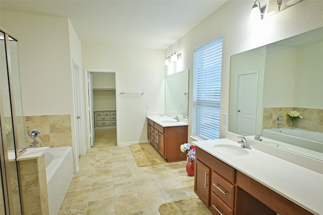
[[[25,116],[24,118],[27,148],[72,146],[71,115]],[[33,140],[28,136],[28,131],[31,129],[40,131],[40,136],[36,139],[38,143],[34,146],[30,146]]]

